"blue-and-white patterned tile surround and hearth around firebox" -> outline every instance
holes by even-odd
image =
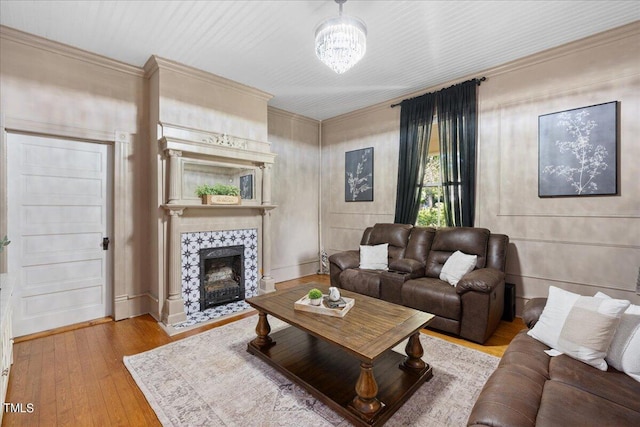
[[[245,298],[258,295],[258,230],[255,228],[200,231],[182,233],[182,298],[184,299],[185,322],[173,325],[176,329],[187,328],[211,319],[238,313],[250,308],[244,301],[211,307],[200,311],[200,255],[201,249],[223,248],[244,245]]]

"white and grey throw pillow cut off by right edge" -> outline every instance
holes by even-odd
[[[595,297],[611,298],[602,292],[598,292]],[[640,305],[632,304],[622,313],[604,360],[640,382]]]

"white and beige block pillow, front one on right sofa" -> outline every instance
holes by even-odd
[[[629,304],[627,300],[585,297],[551,286],[547,305],[527,334],[606,371],[607,349]]]

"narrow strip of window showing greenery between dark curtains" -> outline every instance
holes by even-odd
[[[440,143],[438,122],[434,119],[429,140],[429,156],[424,165],[424,181],[420,196],[420,210],[416,225],[420,227],[444,227],[444,203],[442,201],[442,175],[440,174]]]

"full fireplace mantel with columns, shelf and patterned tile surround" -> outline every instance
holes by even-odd
[[[244,301],[237,301],[200,311],[198,252],[244,245],[245,298],[275,290],[270,275],[270,215],[275,208],[271,204],[271,166],[275,154],[270,152],[270,144],[167,125],[162,127],[159,143],[168,184],[162,205],[168,237],[162,321],[182,328],[248,308]],[[188,188],[193,183],[185,176],[194,165],[252,171],[254,197],[240,205],[202,205],[193,188]]]

